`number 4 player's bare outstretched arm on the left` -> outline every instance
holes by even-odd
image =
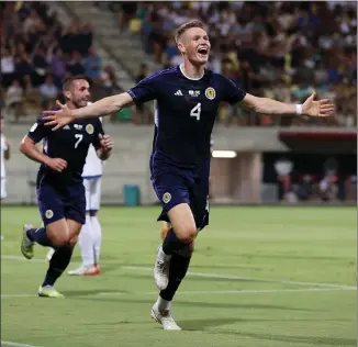
[[[122,110],[124,107],[130,105],[133,102],[132,97],[127,92],[116,94],[113,97],[103,98],[93,102],[86,108],[70,110],[66,104],[61,104],[57,101],[57,105],[60,110],[45,111],[44,121],[47,126],[55,125],[53,131],[65,126],[69,123],[80,119],[91,119],[109,115],[113,112]]]

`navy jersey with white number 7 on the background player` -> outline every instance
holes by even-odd
[[[48,183],[58,190],[82,182],[82,170],[90,144],[100,147],[99,134],[104,134],[99,119],[81,120],[68,124],[56,132],[45,126],[40,117],[31,127],[27,136],[35,143],[44,141],[44,153],[51,158],[61,158],[67,161],[63,172],[51,169],[42,164],[37,175],[37,186]]]

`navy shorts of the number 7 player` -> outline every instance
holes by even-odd
[[[80,224],[86,222],[83,184],[74,186],[64,194],[51,186],[40,186],[37,189],[37,202],[45,226],[61,219],[72,220]]]

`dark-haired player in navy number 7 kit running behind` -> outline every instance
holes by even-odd
[[[64,81],[66,108],[69,110],[87,105],[90,82],[86,76],[70,77]],[[35,144],[44,139],[44,152]],[[67,125],[59,132],[44,125],[43,117],[31,127],[22,139],[20,150],[30,159],[41,163],[37,175],[37,201],[45,227],[25,225],[21,251],[25,258],[34,256],[34,243],[52,247],[55,253],[40,296],[64,298],[54,287],[67,268],[78,234],[86,220],[86,197],[82,169],[88,148],[92,144],[99,158],[109,158],[112,142],[104,135],[100,120],[83,120]]]

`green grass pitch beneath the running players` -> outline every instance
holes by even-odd
[[[46,249],[20,256],[35,208],[3,208],[1,339],[18,347],[356,345],[356,209],[212,208],[172,305],[182,332],[150,320],[159,208],[103,208],[102,275],[64,275],[65,300],[35,296]],[[79,251],[69,268],[80,261]]]

